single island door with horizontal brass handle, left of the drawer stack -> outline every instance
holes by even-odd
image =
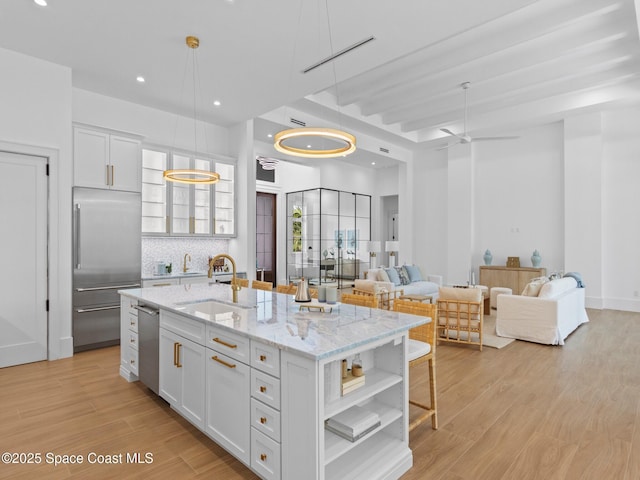
[[[205,432],[233,456],[250,463],[251,368],[207,349]]]

